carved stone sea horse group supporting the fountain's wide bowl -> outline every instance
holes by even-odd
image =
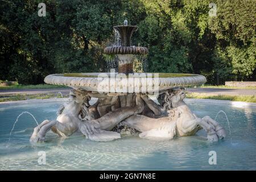
[[[90,105],[91,97],[98,98]],[[56,120],[45,120],[35,127],[31,142],[45,140],[50,129],[60,137],[68,137],[80,131],[94,141],[109,141],[121,138],[113,131],[121,123],[141,132],[139,137],[147,139],[172,139],[195,135],[200,129],[207,131],[208,140],[217,141],[225,137],[225,130],[212,118],[197,118],[183,101],[185,90],[166,90],[160,93],[160,105],[146,94],[98,94],[84,90],[73,90],[69,101],[60,107]]]

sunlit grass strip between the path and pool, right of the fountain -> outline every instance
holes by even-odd
[[[226,96],[226,95],[211,96],[205,93],[187,93],[187,98],[204,98],[204,99],[214,99],[214,100],[256,102],[255,96]]]

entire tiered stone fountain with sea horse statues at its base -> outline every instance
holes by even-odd
[[[50,129],[60,137],[80,131],[94,141],[109,141],[124,134],[146,139],[172,139],[207,131],[209,140],[225,137],[225,130],[209,116],[198,118],[183,101],[184,86],[204,84],[204,76],[184,73],[134,73],[134,55],[146,55],[146,47],[131,46],[138,29],[114,26],[121,46],[106,47],[106,55],[117,55],[118,73],[64,73],[47,76],[47,84],[73,88],[69,101],[57,111],[56,120],[35,127],[31,142],[45,140]],[[158,100],[151,100],[155,96]],[[90,105],[91,98],[97,98]]]

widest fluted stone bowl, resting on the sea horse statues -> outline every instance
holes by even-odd
[[[63,73],[48,75],[44,82],[104,93],[150,93],[174,87],[204,84],[204,76],[187,73]],[[152,78],[151,78],[152,77]]]

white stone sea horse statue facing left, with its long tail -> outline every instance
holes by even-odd
[[[141,113],[143,110],[143,100],[138,95],[136,97],[137,106],[119,107],[98,118],[96,106],[89,105],[89,94],[88,92],[81,92],[81,90],[72,92],[71,100],[68,104],[60,107],[56,120],[45,120],[35,127],[30,141],[39,142],[45,140],[46,133],[50,129],[60,137],[67,137],[79,130],[86,138],[95,141],[117,139],[120,138],[120,134],[111,130],[123,119],[133,114]]]

